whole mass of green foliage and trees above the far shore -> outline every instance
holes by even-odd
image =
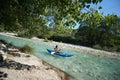
[[[120,51],[120,18],[104,16],[90,4],[102,0],[0,0],[0,32],[37,36],[99,49]],[[82,13],[87,8],[86,13]],[[98,7],[101,9],[102,7]],[[52,19],[47,20],[48,17]],[[48,21],[52,23],[47,26]],[[81,26],[72,28],[76,22]],[[98,45],[99,44],[99,45]]]

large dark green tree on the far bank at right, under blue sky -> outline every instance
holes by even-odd
[[[84,26],[80,26],[75,34],[80,44],[91,47],[99,45],[106,50],[119,50],[120,25],[116,15],[103,16],[93,11],[82,16],[85,16]]]

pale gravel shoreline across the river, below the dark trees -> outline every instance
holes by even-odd
[[[37,41],[44,41],[44,39],[39,39],[37,37],[33,37],[32,39],[37,40]],[[59,45],[60,47],[67,47],[68,49],[72,48],[76,51],[85,52],[85,53],[88,53],[88,54],[120,59],[120,52],[118,52],[118,53],[108,52],[108,51],[94,49],[94,48],[90,48],[90,47],[74,45],[74,44],[69,44],[69,43],[61,43],[61,42],[56,42],[56,41],[48,41],[48,43],[52,43],[54,45]]]

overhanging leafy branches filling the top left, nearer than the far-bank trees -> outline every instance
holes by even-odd
[[[90,3],[102,0],[0,0],[0,24],[4,30],[30,33],[32,27],[43,27],[46,23],[41,16],[53,16],[55,25],[66,19],[65,27],[74,25],[80,18],[80,11]],[[39,19],[38,19],[39,18]],[[42,19],[42,20],[41,20]],[[28,30],[26,30],[28,29]],[[26,32],[28,31],[28,32]]]

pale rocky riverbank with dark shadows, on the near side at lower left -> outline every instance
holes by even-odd
[[[0,42],[0,80],[67,80],[67,75],[34,55]]]

